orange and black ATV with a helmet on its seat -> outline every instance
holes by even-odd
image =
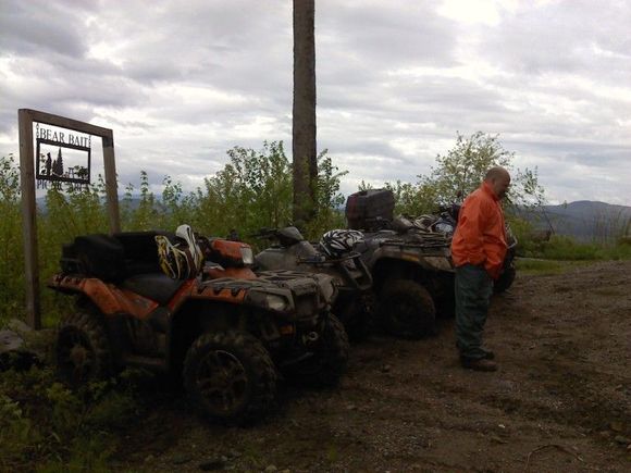
[[[171,372],[202,413],[239,424],[271,408],[279,372],[335,383],[348,338],[330,313],[332,278],[257,276],[248,245],[193,238],[182,225],[176,235],[87,235],[64,246],[49,287],[76,296],[77,309],[59,327],[61,375],[77,384],[133,365]]]

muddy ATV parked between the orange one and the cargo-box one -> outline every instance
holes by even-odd
[[[293,270],[323,273],[333,277],[338,296],[333,304],[348,336],[366,338],[372,329],[373,292],[370,271],[352,247],[363,237],[359,232],[331,231],[321,241],[310,242],[288,226],[263,228],[255,237],[272,241],[255,257],[261,270]]]

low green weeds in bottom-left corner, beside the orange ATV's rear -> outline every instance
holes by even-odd
[[[116,431],[140,413],[135,391],[115,381],[73,391],[50,369],[0,378],[0,471],[109,471]]]

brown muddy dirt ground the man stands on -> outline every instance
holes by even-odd
[[[355,345],[335,389],[281,386],[249,428],[166,393],[124,432],[122,471],[631,471],[631,262],[518,274],[485,339],[496,373],[458,364],[453,320],[420,341]]]

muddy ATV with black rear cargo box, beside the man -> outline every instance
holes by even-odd
[[[393,217],[393,210],[387,189],[356,192],[346,202],[349,227],[364,233],[355,250],[372,274],[379,323],[395,336],[418,339],[435,333],[436,308],[449,311],[453,304],[449,239],[418,232]]]

